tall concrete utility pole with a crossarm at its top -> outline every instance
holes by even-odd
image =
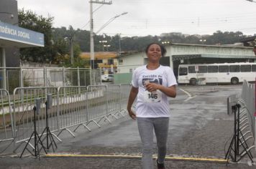
[[[94,42],[93,42],[93,4],[107,4],[111,5],[112,1],[106,2],[105,0],[89,1],[90,3],[90,57],[91,57],[91,68],[94,69]]]

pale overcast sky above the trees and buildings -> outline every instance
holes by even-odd
[[[93,0],[96,1],[96,0]],[[104,0],[99,0],[104,1]],[[109,2],[109,0],[105,0]],[[93,32],[122,37],[163,33],[256,35],[256,0],[112,0],[93,3]],[[54,17],[53,26],[90,30],[89,0],[17,0],[18,9]],[[116,17],[119,14],[122,16]],[[101,27],[107,22],[104,29]]]

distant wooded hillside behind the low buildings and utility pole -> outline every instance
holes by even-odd
[[[90,32],[86,30],[73,30],[75,32],[73,41],[80,45],[81,51],[90,52]],[[55,29],[55,34],[62,34],[63,37],[67,36],[68,29],[65,27]],[[96,35],[94,34],[94,51],[102,52],[106,51],[106,47],[99,41],[107,41],[106,44],[110,44],[108,48],[109,52],[122,52],[126,51],[142,51],[147,44],[152,42],[172,42],[172,43],[185,43],[185,44],[234,44],[239,42],[240,39],[246,37],[242,32],[214,32],[212,35],[184,35],[184,34],[167,34],[165,36],[146,36],[146,37],[120,37],[119,34],[113,37],[108,35]],[[200,42],[200,39],[206,39],[206,42]]]

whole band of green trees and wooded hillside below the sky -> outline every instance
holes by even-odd
[[[79,59],[81,52],[90,52],[90,32],[73,29],[72,26],[52,28],[53,17],[44,18],[32,11],[19,10],[19,26],[41,32],[45,35],[45,47],[21,49],[21,59],[31,62],[53,63],[70,66],[70,42],[73,42],[74,64],[72,67],[89,67],[89,62]],[[121,37],[94,34],[94,51],[106,51],[99,41],[107,41],[109,52],[142,51],[152,42],[172,42],[186,44],[234,44],[246,37],[242,32],[214,32],[212,35],[185,35],[170,33],[164,36]],[[206,42],[200,42],[206,39]]]

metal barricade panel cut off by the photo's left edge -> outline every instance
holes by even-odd
[[[0,143],[8,140],[14,140],[12,116],[9,92],[7,90],[0,89]]]

